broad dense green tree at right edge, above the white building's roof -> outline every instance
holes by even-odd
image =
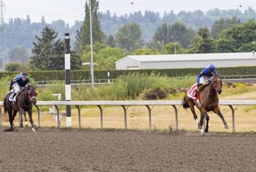
[[[251,52],[256,49],[256,22],[251,19],[223,30],[217,39],[218,52]]]

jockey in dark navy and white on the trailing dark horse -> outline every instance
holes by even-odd
[[[14,87],[14,94],[12,94],[12,100],[17,95],[19,90],[21,90],[21,87],[25,87],[28,83],[30,83],[30,80],[28,79],[28,74],[25,72],[22,72],[22,74],[19,74],[14,78],[14,80],[10,81],[10,90],[12,87]]]

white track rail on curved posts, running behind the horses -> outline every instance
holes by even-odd
[[[175,111],[176,129],[179,129],[178,110],[182,106],[182,100],[125,100],[125,101],[38,101],[35,107],[37,108],[38,127],[40,127],[40,109],[44,105],[51,105],[57,109],[57,127],[60,127],[60,107],[65,105],[75,106],[78,111],[79,127],[81,126],[81,108],[83,105],[96,105],[100,109],[100,127],[103,128],[103,110],[102,106],[120,105],[124,110],[125,129],[127,129],[127,108],[135,105],[145,105],[149,111],[149,131],[152,130],[152,109],[155,105],[172,106]],[[3,102],[0,101],[0,105]],[[256,105],[256,100],[219,100],[219,105],[227,105],[232,111],[232,132],[235,132],[235,109],[233,106],[239,105]],[[177,108],[178,107],[178,108]],[[2,126],[2,109],[0,107],[0,127]]]

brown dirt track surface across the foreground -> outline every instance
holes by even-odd
[[[0,171],[256,171],[255,133],[0,128]]]

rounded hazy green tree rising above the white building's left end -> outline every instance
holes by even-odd
[[[118,47],[128,51],[135,51],[142,47],[140,26],[134,22],[122,25],[116,33],[116,43]]]

